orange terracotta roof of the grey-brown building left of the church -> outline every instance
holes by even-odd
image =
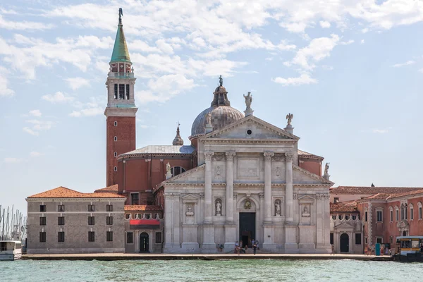
[[[58,187],[45,192],[32,195],[28,198],[125,198],[124,196],[117,195],[110,192],[99,193],[82,193],[66,187]]]

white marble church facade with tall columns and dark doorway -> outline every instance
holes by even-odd
[[[199,166],[162,183],[164,252],[229,252],[253,219],[262,250],[330,252],[332,183],[298,166],[298,140],[255,116],[200,137]]]

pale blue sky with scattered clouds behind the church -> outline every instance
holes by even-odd
[[[324,157],[338,185],[423,187],[423,4],[415,0],[0,4],[0,204],[106,185],[106,75],[123,8],[137,148],[171,145],[223,77],[231,106]]]

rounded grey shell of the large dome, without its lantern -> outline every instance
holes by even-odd
[[[191,128],[191,137],[194,135],[204,134],[204,128],[206,127],[206,115],[212,114],[212,125],[213,130],[223,128],[224,126],[231,124],[235,121],[239,121],[244,117],[244,114],[233,109],[231,106],[211,106],[209,109],[202,111],[197,118],[195,118],[194,123],[192,123]]]

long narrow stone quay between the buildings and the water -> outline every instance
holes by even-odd
[[[257,254],[257,255],[236,255],[236,254],[185,254],[185,255],[167,255],[167,254],[53,254],[53,255],[23,255],[22,259],[33,260],[177,260],[177,259],[202,259],[202,260],[221,260],[221,259],[355,259],[362,261],[386,262],[393,260],[390,256],[374,255],[329,255],[329,254]]]

